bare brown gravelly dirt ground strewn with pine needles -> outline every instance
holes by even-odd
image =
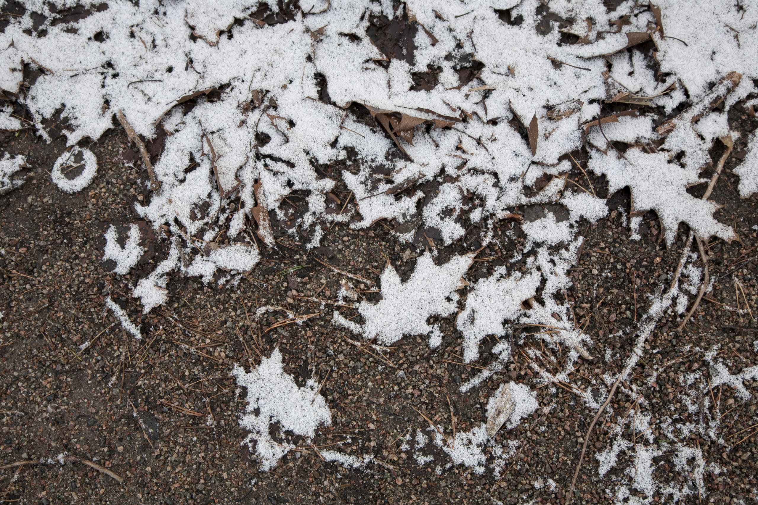
[[[733,129],[745,132],[758,126],[747,115],[734,111],[733,116]],[[553,404],[550,416],[537,410],[528,422],[500,432],[499,439],[521,442],[500,479],[490,473],[476,475],[462,466],[437,475],[402,452],[399,437],[409,429],[428,428],[414,409],[443,425],[446,432],[482,422],[486,398],[460,394],[458,386],[477,373],[478,366],[486,366],[486,360],[476,366],[462,364],[462,338],[453,326],[454,318],[440,320],[445,335],[440,348],[430,350],[421,338],[403,338],[382,359],[352,344],[348,339],[353,335],[330,324],[333,304],[321,310],[321,304],[308,299],[334,301],[344,278],[335,270],[339,269],[366,279],[357,283],[362,297],[377,300],[371,282],[378,281],[387,261],[407,278],[424,248],[440,246],[434,236],[413,245],[390,234],[396,226],[393,222],[383,220],[365,231],[337,224],[329,229],[321,248],[306,253],[302,242],[284,234],[287,223],[277,223],[277,248],[262,248],[264,259],[239,285],[218,291],[177,274],[170,282],[168,306],[143,316],[129,296],[128,285],[161,260],[164,242],[146,239],[143,245],[149,252],[136,269],[127,276],[114,276],[102,262],[102,235],[111,224],[136,220],[133,201],[149,198],[136,192],[137,180],[145,179],[146,173],[124,164],[133,152],[124,133],[114,129],[90,146],[99,160],[96,179],[83,192],[65,195],[49,176],[64,147],[61,138],[47,145],[25,131],[7,136],[2,143],[2,151],[27,154],[30,169],[25,185],[0,197],[0,247],[5,249],[0,257],[0,310],[6,312],[0,333],[0,465],[43,457],[55,460],[65,454],[95,461],[123,482],[83,463],[53,461],[3,469],[0,499],[45,504],[493,503],[493,498],[503,503],[565,503],[564,493],[594,410],[578,401],[571,388],[562,386],[556,394],[540,388],[528,366],[530,358],[520,348],[527,344],[514,338],[513,362],[481,391],[492,391],[507,374],[510,380],[537,389],[543,406]],[[713,159],[717,161],[719,155],[716,148]],[[580,163],[581,156],[575,153]],[[747,301],[752,315],[758,309],[758,238],[753,229],[758,224],[758,198],[742,200],[735,191],[737,177],[731,167],[741,156],[744,145],[738,141],[713,195],[725,204],[716,217],[732,224],[741,242],[713,239],[706,244],[710,276],[716,278],[713,291],[684,332],[674,331],[679,323],[675,318],[659,322],[630,381],[647,388],[644,394],[655,416],[676,409],[684,421],[697,417],[678,408],[678,379],[707,368],[703,351],[714,344],[721,345],[719,357],[735,370],[758,363],[753,344],[758,338],[756,320],[750,313],[730,308],[745,308]],[[583,177],[579,170],[571,173],[578,182],[583,183]],[[597,335],[599,343],[591,351],[591,360],[580,359],[576,375],[581,378],[574,383],[578,387],[590,387],[590,378],[621,368],[622,363],[605,363],[600,353],[606,347],[622,355],[631,350],[630,340],[614,340],[609,335],[645,313],[646,295],[675,270],[688,233],[682,225],[678,240],[667,250],[651,212],[644,216],[641,240],[631,241],[624,215],[629,209],[628,194],[606,195],[603,178],[590,179],[599,196],[610,197],[609,207],[614,211],[599,223],[583,226],[586,241],[572,273],[574,285],[565,293],[576,320],[586,320],[587,332]],[[344,186],[338,189],[341,201],[349,198]],[[691,191],[700,195],[704,187]],[[291,207],[296,214],[301,200],[290,195],[283,208]],[[514,210],[526,220],[543,212],[539,206]],[[503,221],[498,233],[518,226],[518,222]],[[149,236],[146,223],[140,229],[143,237]],[[440,262],[452,254],[479,249],[477,236],[471,232],[462,241],[441,248]],[[522,248],[518,240],[506,244],[506,248],[490,246],[480,251],[468,272],[469,282],[490,275],[493,267]],[[287,270],[302,265],[299,270]],[[735,291],[733,279],[741,282],[744,297]],[[131,320],[141,322],[141,340],[127,335],[112,313],[105,311],[108,295]],[[259,322],[250,320],[249,314],[266,304],[287,307],[297,315],[316,315],[302,326],[271,328],[283,314],[274,314],[279,319],[272,315]],[[337,308],[347,317],[356,314],[350,307]],[[80,349],[86,341],[92,344]],[[484,356],[494,343],[494,339],[483,342]],[[280,348],[287,373],[302,382],[310,376],[323,382],[321,394],[334,419],[313,445],[293,438],[301,449],[291,451],[270,472],[258,472],[255,456],[240,445],[246,435],[237,422],[244,394],[236,391],[230,377],[233,363],[255,366],[258,348],[266,355]],[[564,359],[565,350],[554,355],[548,351],[541,365],[549,368],[549,361]],[[334,371],[327,373],[329,369]],[[641,379],[653,370],[658,373],[654,385],[642,385]],[[750,401],[735,397],[733,388],[710,391],[714,401],[719,397],[725,405],[719,430],[726,447],[704,439],[694,442],[703,449],[705,460],[718,463],[722,472],[706,473],[709,494],[703,500],[695,494],[688,503],[755,502],[756,434],[749,422],[756,409],[756,382],[746,385],[753,394]],[[612,397],[616,416],[634,408],[629,400],[631,387],[624,383]],[[209,415],[215,426],[208,426]],[[609,503],[606,489],[615,473],[625,468],[628,457],[622,454],[615,469],[604,479],[597,477],[593,454],[609,440],[606,426],[610,419],[601,416],[578,478],[576,503]],[[340,450],[373,454],[386,464],[362,471],[325,463],[319,447],[336,444],[347,435],[352,444]],[[662,433],[655,435],[665,438]],[[668,479],[681,479],[670,455],[657,457],[656,463],[663,463],[656,467],[656,475],[669,472]],[[540,475],[553,479],[557,487],[534,488],[534,479]]]

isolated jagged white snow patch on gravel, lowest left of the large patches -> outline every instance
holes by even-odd
[[[271,352],[271,356],[262,358],[250,372],[235,366],[231,375],[236,378],[237,385],[247,388],[247,406],[240,418],[240,426],[250,433],[243,444],[247,444],[251,451],[255,450],[263,471],[271,469],[295,448],[283,441],[284,432],[313,438],[319,426],[331,425],[331,413],[324,397],[318,394],[318,383],[309,379],[299,388],[293,376],[284,373],[278,348]],[[273,423],[278,423],[281,442],[274,441],[269,432]],[[346,461],[345,457],[342,460]]]

